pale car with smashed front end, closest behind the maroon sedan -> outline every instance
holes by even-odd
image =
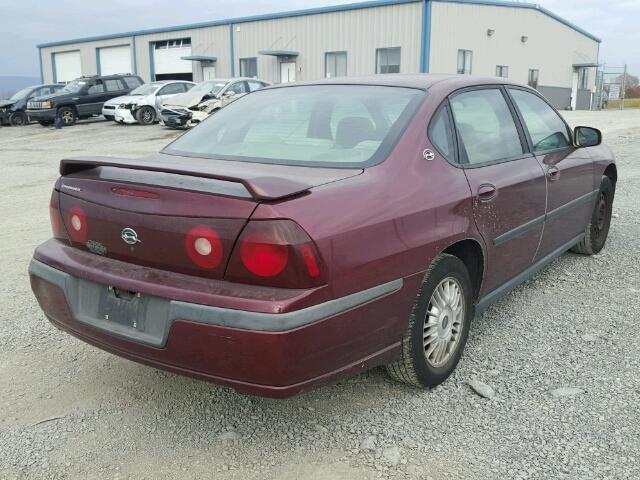
[[[220,78],[199,83],[184,95],[166,101],[160,111],[160,123],[170,128],[188,128],[249,92],[269,82],[255,78]]]

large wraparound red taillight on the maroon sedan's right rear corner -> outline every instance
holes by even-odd
[[[284,288],[323,283],[315,244],[291,220],[252,220],[231,254],[227,280]]]

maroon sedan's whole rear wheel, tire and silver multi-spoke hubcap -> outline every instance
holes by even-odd
[[[473,318],[471,278],[465,264],[441,254],[427,271],[389,375],[417,387],[434,387],[453,372]]]

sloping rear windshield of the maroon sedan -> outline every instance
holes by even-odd
[[[386,158],[423,97],[422,90],[368,85],[258,90],[163,153],[285,165],[371,165]]]

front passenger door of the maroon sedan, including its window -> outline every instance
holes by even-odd
[[[508,91],[547,175],[547,216],[538,251],[542,258],[584,231],[593,209],[593,162],[587,149],[573,146],[571,130],[544,99],[521,88]]]

